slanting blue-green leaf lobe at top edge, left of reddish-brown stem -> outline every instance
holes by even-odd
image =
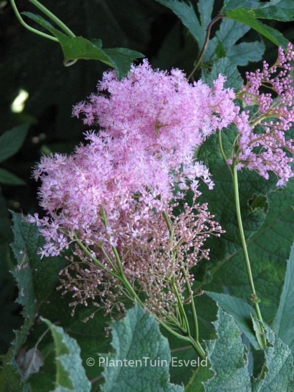
[[[199,48],[202,48],[205,41],[205,29],[200,26],[195,10],[191,2],[189,4],[179,0],[156,0],[160,4],[170,8],[174,14],[182,21],[193,37],[198,42]]]

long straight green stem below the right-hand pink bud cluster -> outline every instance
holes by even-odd
[[[244,230],[243,230],[243,223],[242,223],[242,218],[241,218],[241,210],[240,210],[240,200],[239,200],[239,187],[238,187],[238,174],[237,174],[237,161],[234,160],[233,162],[233,185],[234,185],[234,197],[235,197],[235,205],[236,205],[236,213],[237,213],[237,221],[238,221],[238,226],[239,226],[239,231],[240,231],[240,236],[241,236],[241,241],[242,241],[242,247],[243,247],[243,252],[244,252],[244,257],[245,257],[245,264],[246,264],[246,269],[247,269],[247,274],[248,274],[248,279],[249,279],[249,284],[250,284],[250,289],[251,289],[251,294],[252,294],[252,299],[254,302],[255,310],[256,310],[256,315],[257,319],[260,321],[260,330],[262,332],[262,339],[264,346],[267,345],[266,338],[264,336],[264,328],[262,325],[262,316],[261,312],[259,309],[258,305],[258,296],[255,291],[254,287],[254,282],[253,282],[253,277],[252,277],[252,272],[251,272],[251,266],[250,266],[250,261],[249,261],[249,256],[248,256],[248,251],[247,251],[247,245],[245,241],[245,235],[244,235]]]

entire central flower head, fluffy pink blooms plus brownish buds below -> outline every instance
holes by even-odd
[[[76,246],[79,277],[68,275],[64,284],[78,301],[100,294],[107,309],[118,305],[124,289],[107,273],[111,266],[119,268],[114,249],[129,281],[144,291],[150,310],[164,308],[169,314],[176,301],[172,282],[183,292],[180,261],[187,279],[193,280],[189,269],[208,257],[208,251],[200,249],[203,242],[210,233],[221,232],[207,206],[196,204],[198,178],[209,188],[213,182],[194,155],[196,147],[229,125],[239,111],[224,82],[220,75],[213,88],[201,81],[192,85],[181,71],[153,71],[145,60],[121,81],[115,72],[104,73],[98,94],[74,106],[73,114],[99,125],[99,131],[88,132],[88,143],[70,156],[41,159],[34,174],[42,181],[40,205],[47,216],[29,221],[45,237],[42,256],[58,255],[78,238],[105,266],[101,270],[93,265]],[[175,217],[175,200],[188,190],[195,194],[193,205],[185,205]],[[173,225],[173,236],[163,212]],[[80,269],[81,262],[91,269]]]

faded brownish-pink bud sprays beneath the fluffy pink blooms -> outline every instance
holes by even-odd
[[[116,246],[127,281],[137,292],[144,294],[145,309],[162,319],[174,314],[178,303],[175,292],[181,296],[183,303],[191,301],[183,294],[186,279],[191,285],[194,280],[190,270],[200,259],[208,259],[208,250],[202,249],[206,238],[222,233],[221,227],[207,211],[207,205],[195,203],[197,196],[192,207],[185,204],[183,212],[177,216],[172,213],[177,203],[167,209],[173,222],[173,236],[167,230],[163,215],[153,214],[148,220],[137,221],[133,226],[134,235],[121,236]],[[103,244],[103,247],[93,244],[91,249],[95,257],[103,261],[105,269],[101,270],[81,249],[76,248],[75,256],[79,262],[72,257],[70,266],[61,271],[63,278],[59,289],[63,289],[62,294],[73,293],[71,306],[74,308],[78,304],[87,306],[91,301],[98,309],[103,308],[106,314],[123,314],[127,297],[125,287],[108,272],[111,265],[117,267],[114,251],[109,243]]]

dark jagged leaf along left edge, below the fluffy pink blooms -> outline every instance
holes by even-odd
[[[15,340],[5,357],[3,371],[8,391],[29,391],[30,386],[19,368],[15,358],[25,344],[27,334],[36,318],[40,305],[48,300],[49,294],[58,282],[58,271],[64,266],[61,258],[50,258],[49,264],[40,262],[37,255],[43,238],[38,235],[38,228],[26,222],[22,215],[12,212],[14,222],[14,243],[11,245],[17,260],[12,274],[17,282],[19,296],[17,301],[23,306],[25,324],[16,332]],[[18,387],[16,387],[18,386]]]

